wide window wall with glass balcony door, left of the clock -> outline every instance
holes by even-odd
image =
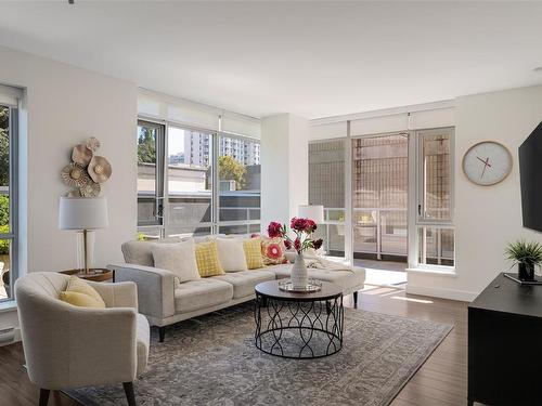
[[[453,266],[453,128],[310,143],[309,204],[328,256]]]

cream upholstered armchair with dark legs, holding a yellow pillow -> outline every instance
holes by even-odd
[[[28,377],[41,389],[40,406],[51,390],[120,382],[136,405],[132,382],[145,369],[150,342],[136,284],[89,283],[107,309],[88,309],[57,299],[68,279],[37,272],[15,284]]]

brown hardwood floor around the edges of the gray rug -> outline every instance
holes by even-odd
[[[349,296],[345,305],[352,306]],[[453,330],[406,383],[391,406],[457,406],[467,401],[467,304],[450,300],[408,296],[392,288],[367,286],[358,307],[411,318],[447,323]],[[39,389],[23,367],[21,343],[0,348],[0,405],[34,406]],[[60,392],[51,392],[51,406],[78,406]]]

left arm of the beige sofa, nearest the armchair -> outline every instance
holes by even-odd
[[[155,318],[175,315],[175,274],[158,267],[130,263],[111,264],[115,281],[134,281],[138,285],[140,313]]]

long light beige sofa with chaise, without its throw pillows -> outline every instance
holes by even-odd
[[[164,341],[166,326],[253,300],[256,285],[289,277],[292,270],[292,264],[273,265],[181,284],[170,271],[154,267],[150,243],[125,243],[122,253],[126,262],[108,267],[115,271],[116,281],[134,281],[138,285],[139,312],[146,316],[151,326],[159,327],[160,342]],[[360,267],[353,267],[352,272],[309,270],[309,277],[341,286],[343,293],[353,293],[357,302],[365,271]]]

